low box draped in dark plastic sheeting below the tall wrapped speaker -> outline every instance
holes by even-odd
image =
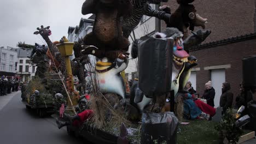
[[[178,118],[173,112],[143,113],[141,143],[176,143]]]

